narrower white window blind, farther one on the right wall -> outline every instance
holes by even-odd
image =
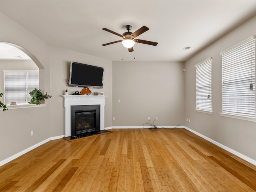
[[[196,109],[212,111],[212,58],[196,67]]]

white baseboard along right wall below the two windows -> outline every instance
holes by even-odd
[[[224,145],[222,145],[222,144],[220,144],[220,143],[218,143],[218,142],[216,142],[216,141],[214,141],[214,140],[212,140],[212,139],[210,139],[210,138],[208,138],[208,137],[206,137],[206,136],[204,136],[204,135],[202,135],[202,134],[200,134],[200,133],[198,133],[198,132],[196,132],[196,131],[194,131],[194,130],[192,130],[190,128],[187,128],[187,127],[184,127],[184,128],[186,130],[189,130],[190,132],[192,132],[192,133],[194,133],[194,134],[204,138],[205,140],[208,140],[211,143],[216,144],[220,148],[222,148],[222,149],[224,149],[224,150],[226,150],[226,151],[228,151],[228,152],[230,152],[230,153],[232,153],[232,154],[242,158],[243,160],[246,160],[247,162],[249,162],[251,164],[254,164],[256,166],[256,160],[253,160],[252,158],[249,158],[249,157],[247,157],[247,156],[245,156],[245,155],[243,155],[243,154],[241,154],[241,153],[239,153],[239,152],[237,152],[237,151],[235,151],[235,150],[233,150],[233,149],[231,149],[231,148],[229,148],[227,146],[224,146]]]

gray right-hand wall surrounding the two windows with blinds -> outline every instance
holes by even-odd
[[[256,122],[222,117],[222,58],[220,52],[256,34],[256,16],[244,22],[196,56],[186,61],[185,67],[185,126],[256,160]],[[212,57],[212,110],[213,114],[195,112],[196,70],[194,65]]]

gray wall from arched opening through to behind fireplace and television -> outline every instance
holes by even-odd
[[[104,88],[91,90],[108,95],[105,127],[112,126],[112,61],[50,46],[1,12],[0,23],[0,41],[16,44],[30,52],[28,55],[40,66],[40,88],[52,95],[46,100],[46,107],[0,110],[0,161],[50,137],[64,134],[64,98],[60,95],[65,89],[70,94],[81,90],[66,84],[70,61],[104,67]],[[33,136],[30,136],[31,130]]]

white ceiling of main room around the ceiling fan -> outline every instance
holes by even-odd
[[[0,0],[0,11],[51,45],[108,60],[185,61],[251,16],[256,0]],[[128,52],[119,34],[150,30]],[[21,37],[22,38],[22,37]],[[190,46],[190,50],[182,50]]]

